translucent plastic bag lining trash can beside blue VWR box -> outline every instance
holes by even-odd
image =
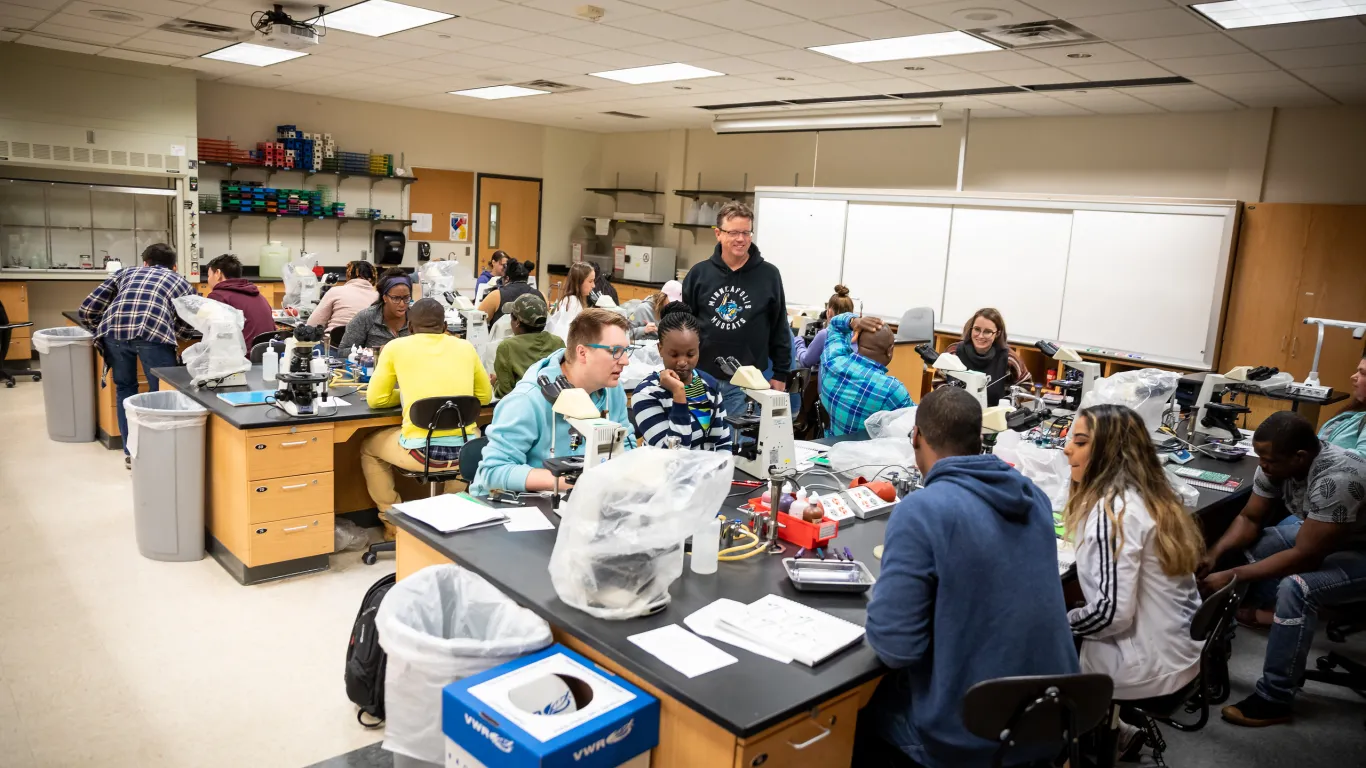
[[[441,689],[550,645],[550,625],[459,566],[430,566],[393,585],[374,616],[389,655],[384,749],[445,763]]]

